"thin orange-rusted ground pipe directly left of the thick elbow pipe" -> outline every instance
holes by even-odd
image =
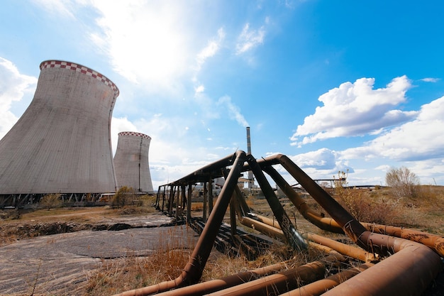
[[[317,280],[314,283],[309,283],[308,285],[304,285],[299,287],[296,290],[289,291],[288,293],[282,294],[281,296],[318,296],[322,295],[324,292],[333,289],[340,283],[343,283],[345,280],[349,278],[353,278],[355,275],[361,273],[364,270],[367,270],[373,263],[364,263],[355,268],[350,268],[348,270],[343,270],[335,275],[331,275],[323,280]]]

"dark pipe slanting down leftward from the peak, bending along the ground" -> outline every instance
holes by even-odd
[[[181,287],[183,285],[190,285],[197,283],[201,278],[202,271],[204,270],[206,261],[209,258],[211,249],[213,248],[213,243],[218,234],[219,227],[223,221],[223,216],[226,213],[228,204],[230,203],[231,196],[233,195],[234,188],[238,186],[238,177],[243,168],[243,163],[245,162],[246,155],[245,152],[238,150],[235,153],[235,160],[232,163],[233,155],[229,155],[224,158],[223,162],[219,161],[214,165],[231,165],[231,170],[228,173],[225,185],[223,186],[221,193],[216,200],[213,212],[211,212],[205,227],[199,236],[199,240],[194,247],[192,256],[189,258],[187,265],[185,265],[182,274],[174,280],[169,280],[166,282],[158,283],[156,285],[151,285],[149,287],[142,287],[140,289],[130,290],[122,292],[121,296],[141,296],[150,295],[158,292],[165,292],[176,287]],[[208,166],[211,168],[211,165]]]

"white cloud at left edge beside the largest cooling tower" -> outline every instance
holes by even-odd
[[[12,128],[18,117],[11,112],[13,102],[32,94],[37,78],[18,72],[16,65],[0,57],[0,138]]]

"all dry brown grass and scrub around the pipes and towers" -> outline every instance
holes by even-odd
[[[393,226],[404,226],[431,234],[444,236],[444,187],[418,186],[417,194],[413,197],[394,197],[389,188],[376,188],[362,190],[341,187],[331,190],[333,197],[360,221],[374,222]],[[249,197],[248,204],[254,212],[270,216],[270,209],[266,199]],[[294,206],[285,198],[281,198],[284,209],[296,223],[296,227],[321,235],[326,235],[305,221]],[[310,197],[306,202],[313,209],[323,212],[316,207]],[[91,227],[101,224],[106,219],[119,215],[140,215],[155,212],[151,207],[152,199],[144,199],[139,207],[111,207],[64,209],[57,208],[38,210],[34,212],[17,212],[13,214],[1,213],[0,240],[1,244],[13,243],[17,239],[60,233],[64,231],[77,231],[82,227]],[[199,215],[199,204],[194,208],[194,216]],[[12,213],[12,212],[9,212]],[[45,226],[48,228],[45,229]],[[165,235],[159,237],[161,247],[152,256],[140,257],[128,253],[123,258],[102,259],[96,270],[85,274],[87,278],[84,295],[112,295],[135,287],[143,287],[171,280],[177,277],[186,265],[194,248],[189,241],[187,248],[174,246],[168,241],[179,228],[165,229]],[[181,235],[175,233],[174,235]],[[330,235],[330,234],[329,234]],[[184,240],[187,235],[183,234]],[[209,258],[201,280],[211,280],[232,275],[240,271],[258,268],[264,265],[281,262],[293,258],[293,265],[301,265],[315,260],[319,253],[289,254],[282,250],[270,250],[255,261],[248,261],[243,256],[230,257],[213,251]],[[290,267],[290,266],[289,266]]]

